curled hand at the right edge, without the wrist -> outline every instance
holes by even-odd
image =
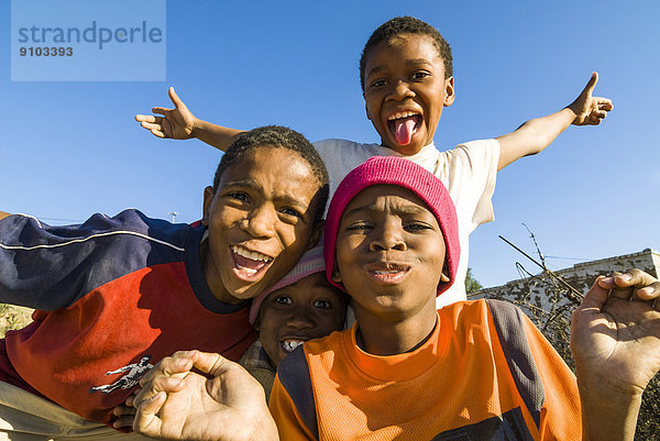
[[[598,277],[571,323],[579,382],[641,395],[660,371],[659,297],[660,282],[639,269]]]

